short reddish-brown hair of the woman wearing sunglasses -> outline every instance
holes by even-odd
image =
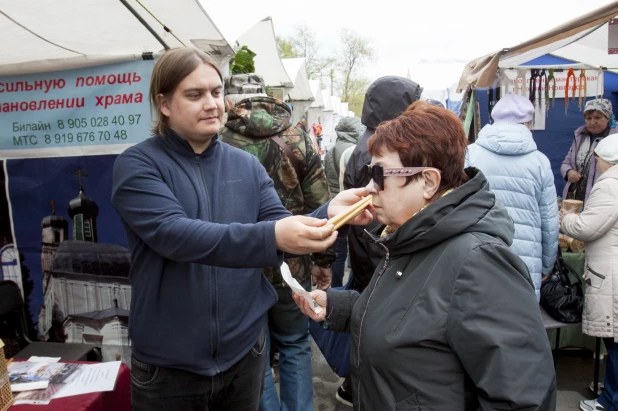
[[[399,117],[380,124],[367,145],[372,156],[399,153],[404,167],[439,169],[437,196],[468,180],[464,172],[468,139],[461,120],[452,111],[426,101],[412,103]],[[420,176],[407,177],[406,184]]]

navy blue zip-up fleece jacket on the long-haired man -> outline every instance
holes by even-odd
[[[282,263],[275,221],[291,215],[262,165],[218,136],[196,155],[170,132],[118,156],[112,202],[131,248],[135,358],[206,376],[230,368],[277,301],[260,267]]]

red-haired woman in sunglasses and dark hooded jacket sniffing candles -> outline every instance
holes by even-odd
[[[464,171],[466,136],[426,102],[369,139],[368,233],[385,258],[362,294],[313,291],[303,312],[351,334],[362,410],[555,410],[550,346],[513,223],[483,174]]]

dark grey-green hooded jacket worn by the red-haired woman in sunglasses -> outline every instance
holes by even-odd
[[[362,294],[328,290],[351,336],[355,410],[556,409],[556,377],[507,210],[471,179],[374,238],[385,258]]]

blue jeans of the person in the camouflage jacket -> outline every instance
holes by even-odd
[[[310,288],[310,280],[302,283]],[[273,381],[270,359],[267,358],[264,375],[264,393],[260,400],[260,411],[312,411],[313,381],[311,371],[311,340],[309,320],[292,299],[289,287],[275,287],[279,301],[268,312],[266,352],[274,344],[279,352],[279,391]],[[267,356],[268,357],[268,356]]]

